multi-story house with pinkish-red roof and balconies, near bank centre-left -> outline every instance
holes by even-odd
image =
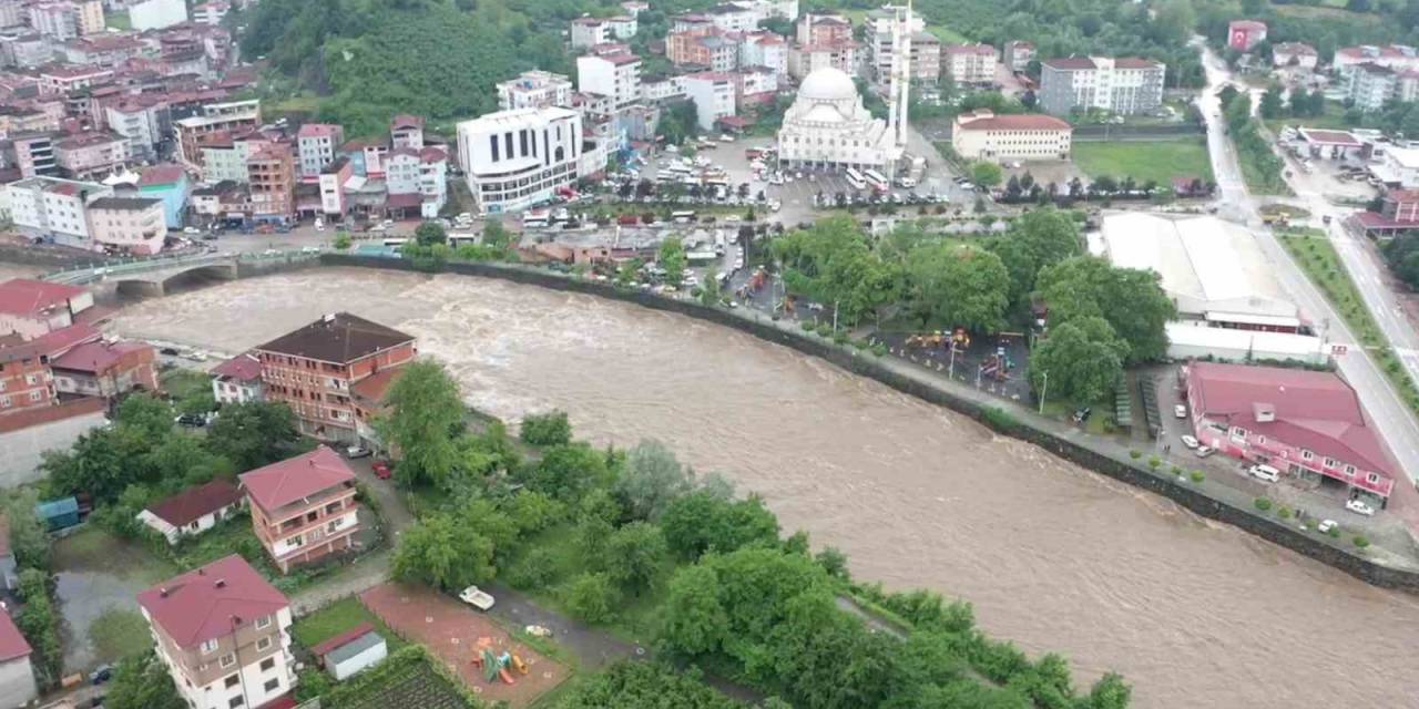
[[[241,486],[257,539],[282,573],[353,545],[355,474],[331,448],[244,472]]]

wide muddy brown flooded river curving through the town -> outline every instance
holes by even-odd
[[[719,326],[498,281],[318,269],[129,306],[114,329],[237,352],[349,311],[419,337],[468,401],[660,438],[890,588],[975,604],[1141,708],[1416,708],[1419,598]]]

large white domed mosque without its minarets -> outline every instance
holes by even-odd
[[[898,157],[887,122],[867,112],[851,77],[823,68],[803,79],[779,129],[780,163],[883,170]]]

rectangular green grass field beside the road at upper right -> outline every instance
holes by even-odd
[[[1169,184],[1174,177],[1212,180],[1212,162],[1202,139],[1076,142],[1074,164],[1090,177],[1132,177]]]

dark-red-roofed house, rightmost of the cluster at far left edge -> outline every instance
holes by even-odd
[[[158,391],[158,356],[143,342],[85,342],[50,360],[60,394],[114,398]]]

